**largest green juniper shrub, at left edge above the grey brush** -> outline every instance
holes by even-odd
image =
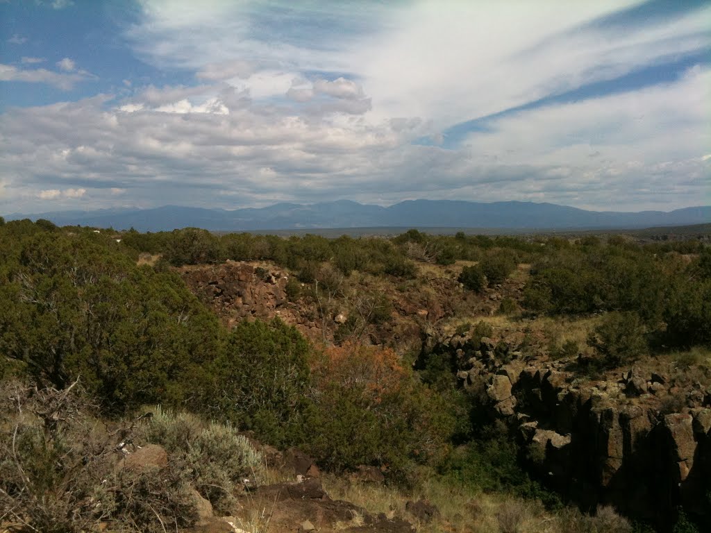
[[[78,376],[105,411],[179,402],[216,355],[218,318],[172,272],[137,266],[94,234],[14,241],[0,267],[0,351],[43,387]]]

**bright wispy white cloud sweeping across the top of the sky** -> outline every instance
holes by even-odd
[[[264,26],[260,10],[266,8],[260,4],[215,1],[197,6],[146,0],[144,19],[127,37],[146,61],[163,68],[192,68],[203,79],[228,79],[230,73],[244,78],[249,65],[253,85],[247,82],[244,87],[252,97],[260,97],[260,87],[270,85],[271,92],[264,91],[264,96],[283,89],[282,95],[288,92],[297,102],[309,99],[306,90],[292,89],[286,79],[274,80],[277,72],[352,72],[358,85],[343,77],[316,81],[314,90],[358,98],[356,87],[362,87],[363,95],[372,99],[372,122],[422,117],[437,134],[437,129],[457,122],[609,80],[708,45],[705,18],[711,16],[711,7],[678,20],[621,30],[585,26],[638,3],[511,0],[461,2],[442,9],[433,0],[357,9],[329,6],[336,15],[328,20],[342,16],[365,23],[370,17],[377,18],[378,25],[354,36],[328,34],[323,38],[333,41],[324,42],[308,32],[284,39],[279,28],[292,21],[273,11],[269,26]],[[319,7],[300,9],[296,11],[303,18],[319,16]],[[284,17],[291,11],[282,10]],[[237,65],[237,70],[230,72],[229,65]]]

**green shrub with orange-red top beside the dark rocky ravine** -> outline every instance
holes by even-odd
[[[444,399],[412,379],[393,350],[346,344],[314,358],[303,446],[331,470],[375,465],[407,480],[447,456],[456,421]]]

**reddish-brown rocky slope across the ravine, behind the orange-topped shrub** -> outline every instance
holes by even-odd
[[[366,320],[355,328],[358,342],[387,344],[402,352],[417,346],[424,323],[454,315],[452,294],[459,291],[464,297],[454,274],[451,278],[427,279],[426,291],[419,286],[402,291],[395,284],[384,284],[376,292],[368,281],[350,279],[347,291],[335,291],[326,296],[327,301],[316,301],[307,285],[301,284],[301,296],[289,301],[289,274],[267,263],[228,261],[182,266],[176,271],[193,294],[212,307],[228,327],[244,318],[269,320],[278,316],[306,337],[331,341],[339,326],[348,330],[348,318],[353,316]],[[351,296],[347,297],[346,292]],[[392,313],[387,320],[370,321],[372,309],[368,306],[375,305],[381,297],[392,306]]]

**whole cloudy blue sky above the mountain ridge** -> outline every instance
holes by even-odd
[[[711,205],[711,1],[0,0],[0,214]]]

